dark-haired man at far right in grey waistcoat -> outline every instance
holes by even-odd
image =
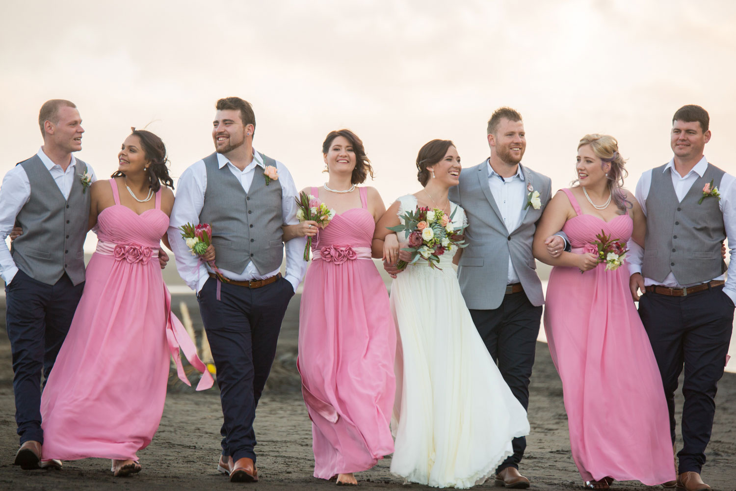
[[[708,163],[710,117],[696,105],[672,120],[673,158],[642,174],[636,197],[646,215],[645,248],[629,255],[631,294],[659,364],[675,441],[675,400],[684,366],[683,448],[679,476],[668,487],[707,490],[701,480],[736,301],[736,262],[728,269],[721,244],[736,251],[736,178]],[[631,243],[629,244],[631,246]],[[645,292],[641,298],[638,291]]]

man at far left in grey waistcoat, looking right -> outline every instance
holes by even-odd
[[[23,469],[61,467],[56,460],[40,462],[41,372],[49,378],[82,297],[82,246],[90,211],[85,191],[95,180],[92,168],[72,155],[82,149],[85,132],[73,102],[46,101],[38,124],[43,146],[10,169],[0,188],[0,275],[6,285],[15,422],[21,437],[13,463]],[[4,239],[16,222],[22,235],[8,250]]]

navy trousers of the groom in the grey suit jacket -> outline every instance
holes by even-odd
[[[524,292],[518,292],[503,297],[498,308],[471,310],[470,316],[488,353],[498,364],[503,380],[524,409],[528,409],[529,378],[537,353],[542,306],[532,305]],[[497,472],[506,467],[519,468],[526,450],[526,437],[512,439],[512,448],[514,453],[498,466]]]

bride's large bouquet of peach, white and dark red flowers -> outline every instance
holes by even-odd
[[[457,209],[456,209],[457,210]],[[415,264],[420,259],[427,261],[429,266],[439,263],[439,256],[445,252],[454,252],[458,247],[465,247],[462,233],[465,226],[453,227],[453,216],[450,216],[439,208],[420,206],[416,211],[407,211],[403,215],[403,225],[388,227],[394,232],[408,234],[408,247],[403,248],[411,252],[411,261],[398,261],[398,269],[406,268],[407,264]]]

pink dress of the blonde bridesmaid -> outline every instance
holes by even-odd
[[[565,223],[573,252],[582,253],[601,229],[628,241],[627,214],[604,222],[583,214]],[[598,264],[584,274],[553,268],[547,287],[545,331],[562,378],[570,448],[584,481],[610,476],[654,485],[675,478],[670,423],[662,378],[631,300],[629,269]]]

